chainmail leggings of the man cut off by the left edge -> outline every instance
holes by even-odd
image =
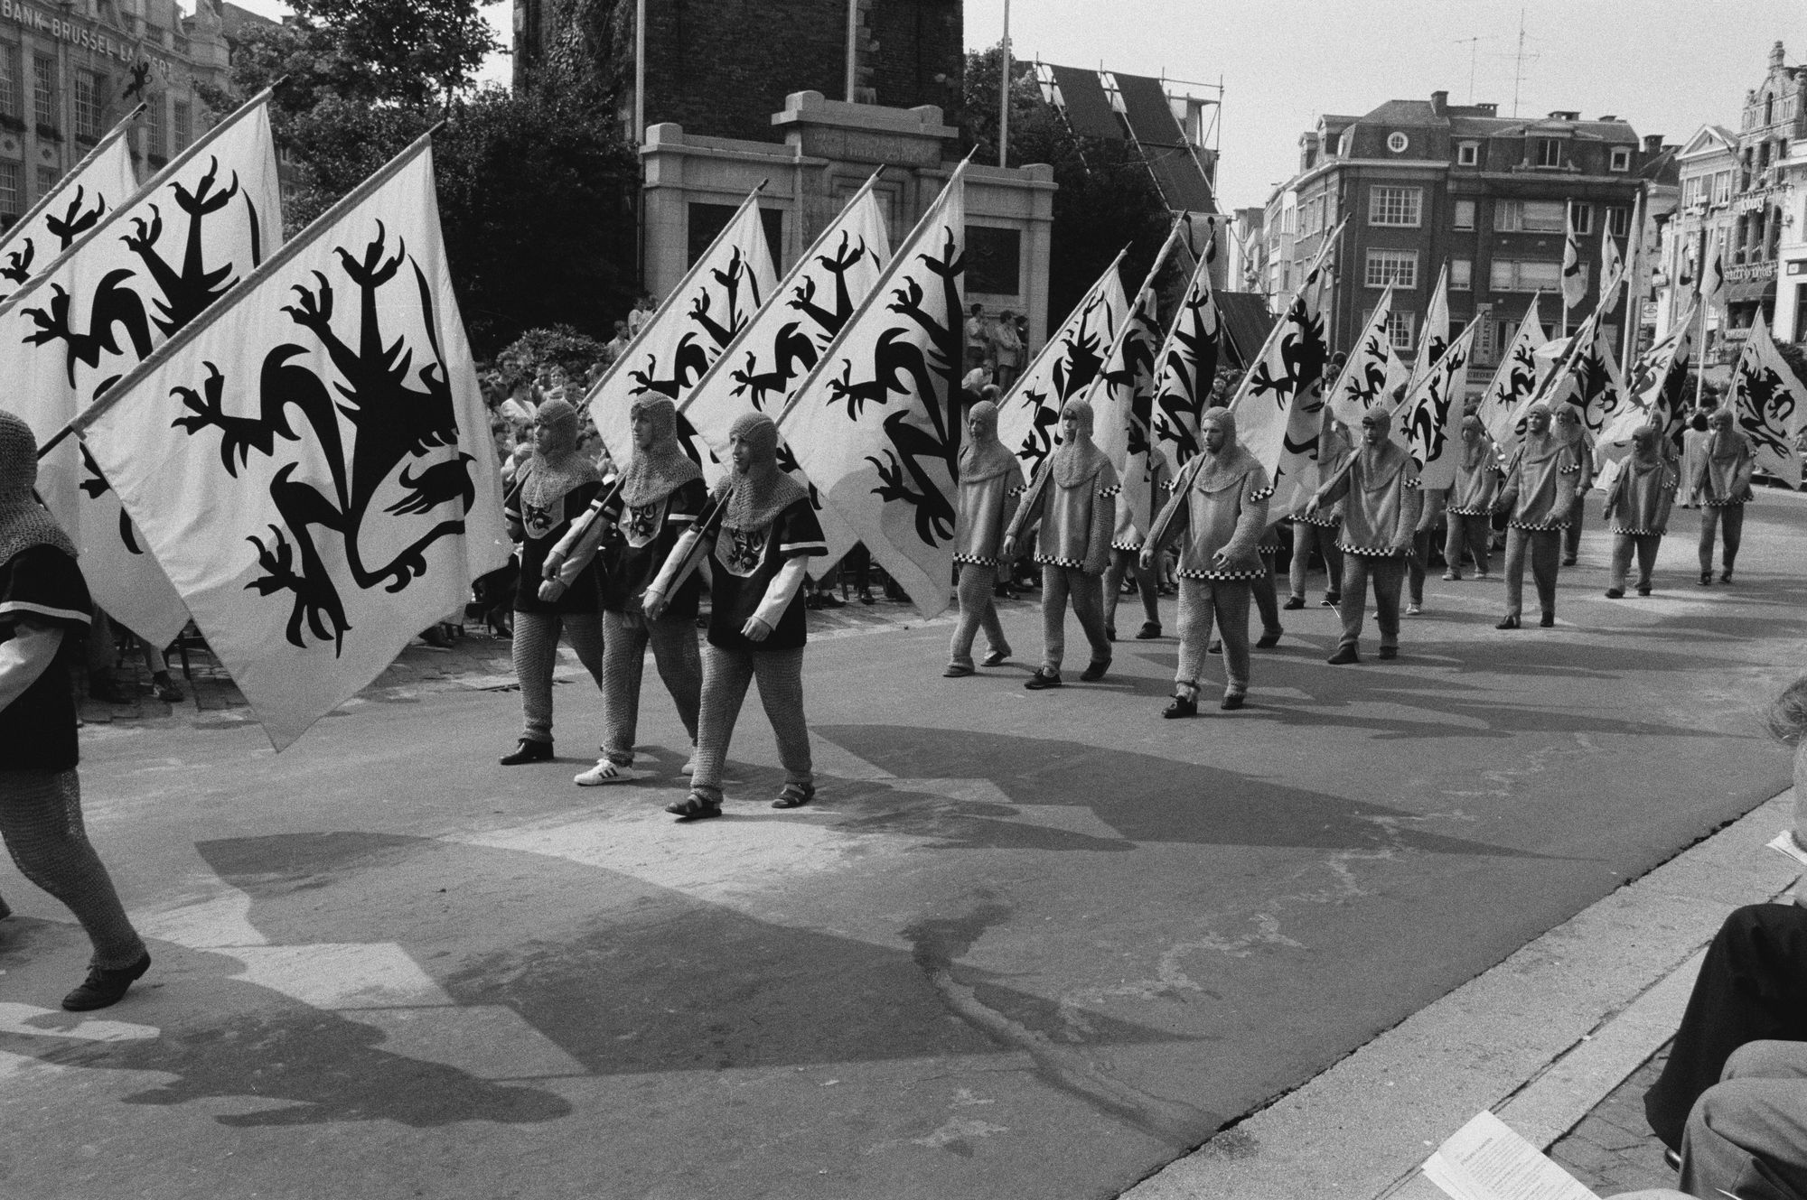
[[[94,943],[92,965],[117,970],[145,956],[145,942],[81,826],[81,781],[74,768],[0,770],[0,837],[18,873],[81,922]]]

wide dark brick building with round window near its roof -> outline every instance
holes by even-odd
[[[1267,210],[1269,280],[1276,295],[1303,277],[1344,217],[1341,264],[1325,305],[1334,349],[1348,349],[1388,284],[1393,345],[1413,352],[1438,273],[1449,271],[1451,333],[1484,318],[1475,365],[1511,345],[1536,293],[1554,336],[1597,300],[1601,239],[1632,240],[1644,192],[1641,170],[1661,139],[1578,112],[1502,117],[1496,105],[1391,99],[1366,116],[1323,116],[1299,139],[1299,173]],[[1581,240],[1587,296],[1563,313],[1561,266],[1568,224]],[[1290,246],[1287,244],[1290,240]],[[1608,333],[1617,338],[1626,304]],[[1484,380],[1471,376],[1471,383]]]

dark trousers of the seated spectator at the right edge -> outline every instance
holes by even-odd
[[[1807,909],[1749,904],[1726,918],[1700,963],[1644,1117],[1681,1149],[1688,1111],[1749,1041],[1807,1041]]]

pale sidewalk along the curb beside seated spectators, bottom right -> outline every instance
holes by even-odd
[[[1493,1110],[1596,1195],[1673,1187],[1643,1093],[1726,914],[1798,869],[1764,842],[1793,792],[1578,913],[1225,1128],[1126,1200],[1444,1200],[1418,1173]]]

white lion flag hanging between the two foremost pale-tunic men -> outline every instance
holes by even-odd
[[[1325,244],[1334,240],[1326,239]],[[1326,277],[1321,253],[1231,399],[1236,441],[1249,448],[1274,481],[1270,513],[1292,511],[1297,492],[1315,479],[1323,374],[1330,361],[1323,318]]]

